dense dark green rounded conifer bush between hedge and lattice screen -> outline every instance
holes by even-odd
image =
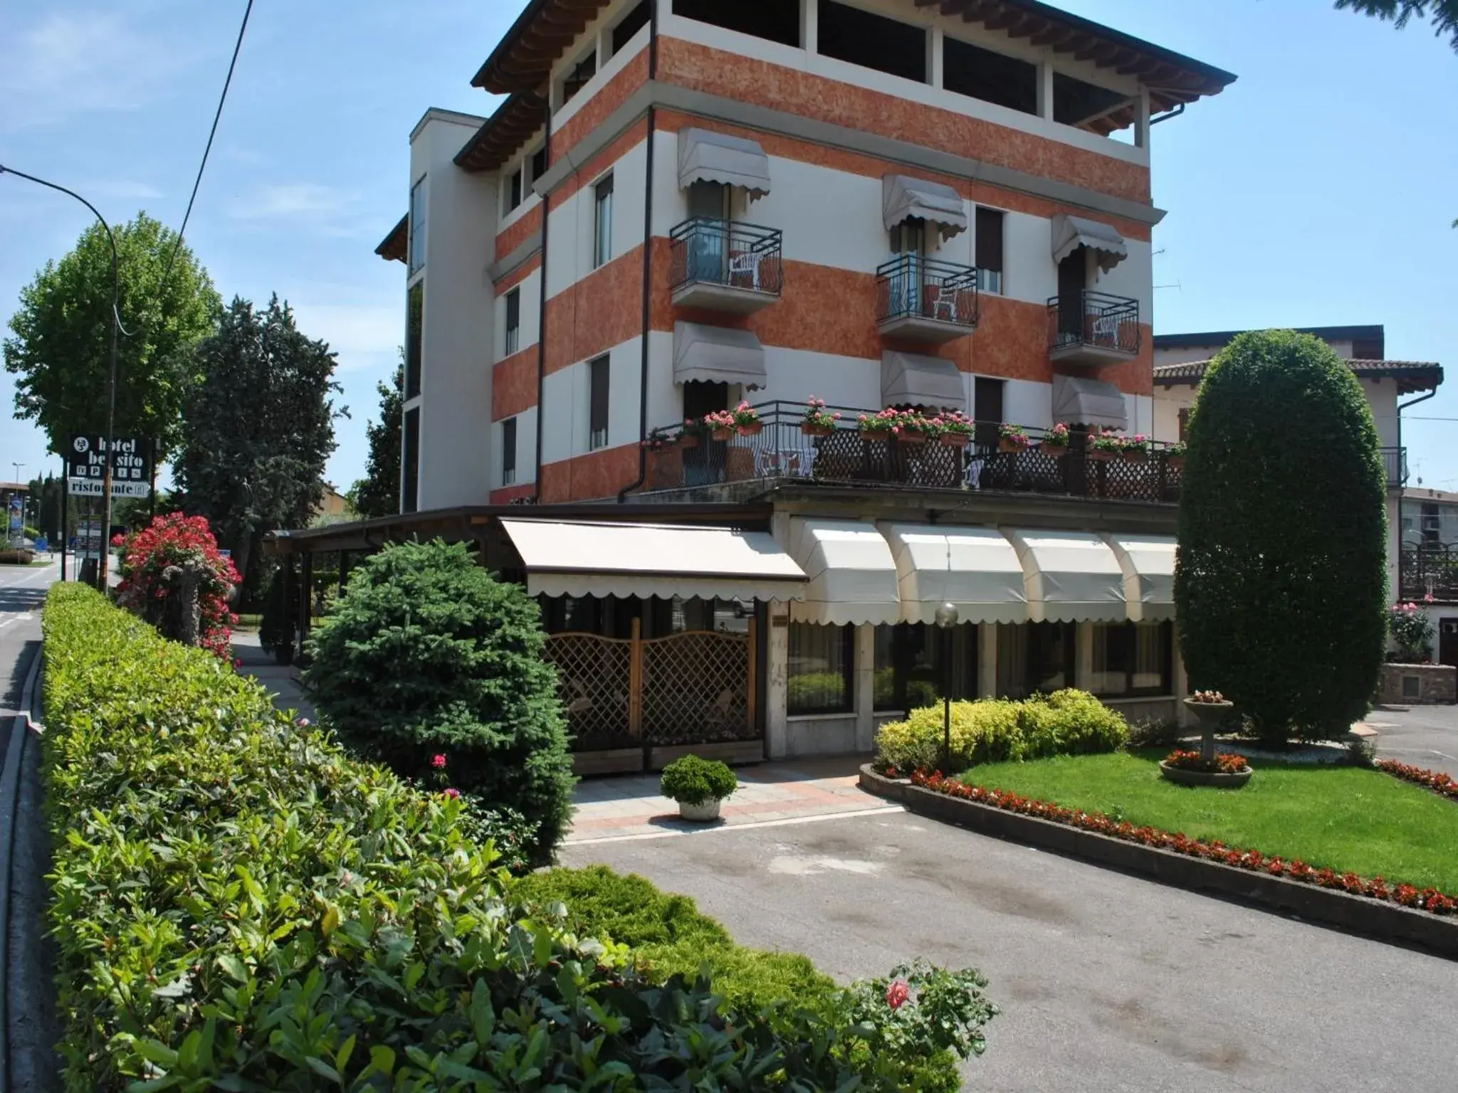
[[[309,640],[315,707],[360,753],[413,780],[521,812],[550,860],[572,812],[572,755],[539,608],[465,545],[404,544],[367,558]]]

